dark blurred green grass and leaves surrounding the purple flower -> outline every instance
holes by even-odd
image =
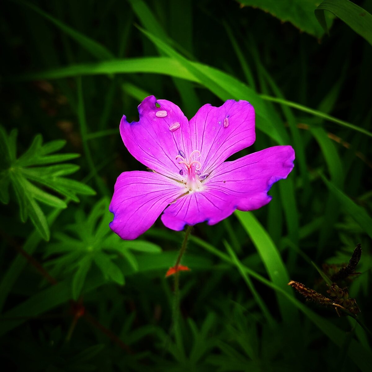
[[[6,370],[369,371],[368,331],[287,285],[294,279],[322,292],[311,262],[347,263],[361,243],[362,274],[349,293],[372,328],[372,49],[363,34],[371,24],[366,17],[360,32],[350,11],[323,35],[320,3],[3,4]],[[346,1],[330,3],[345,13]],[[356,3],[371,13],[370,0]],[[173,280],[164,276],[182,233],[157,221],[122,241],[108,227],[116,177],[144,169],[124,147],[119,121],[124,113],[136,120],[148,94],[188,118],[205,103],[248,100],[257,140],[234,156],[275,144],[296,152],[269,205],[193,229],[174,327]]]

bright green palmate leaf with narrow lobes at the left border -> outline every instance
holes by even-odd
[[[36,135],[28,150],[19,158],[16,157],[17,131],[13,129],[9,135],[0,126],[0,201],[9,203],[9,186],[12,185],[20,207],[20,218],[26,222],[30,217],[41,236],[49,240],[49,226],[44,212],[38,202],[54,208],[66,208],[67,204],[57,196],[41,189],[39,185],[79,201],[77,194],[94,195],[92,188],[81,182],[64,178],[76,172],[79,167],[74,164],[54,164],[71,160],[79,154],[52,154],[60,150],[66,141],[57,140],[42,144],[41,135]],[[42,166],[45,164],[54,164]]]

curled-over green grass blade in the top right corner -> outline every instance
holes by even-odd
[[[334,14],[372,45],[372,15],[348,0],[326,0],[315,9],[318,22],[328,33],[325,11]]]

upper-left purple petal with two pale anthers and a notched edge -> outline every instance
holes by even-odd
[[[156,104],[160,105],[157,107]],[[120,134],[129,152],[142,164],[173,179],[182,180],[176,160],[190,152],[189,122],[181,109],[167,100],[146,97],[138,106],[140,120],[128,123],[124,115]]]

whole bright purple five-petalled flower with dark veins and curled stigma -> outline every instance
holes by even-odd
[[[163,224],[179,231],[203,221],[217,224],[235,209],[260,208],[271,200],[272,184],[294,166],[291,146],[225,161],[256,140],[247,101],[204,105],[188,121],[174,103],[150,96],[138,112],[138,122],[123,116],[120,134],[129,152],[153,171],[124,172],[116,181],[110,228],[123,239],[137,238],[161,212]]]

